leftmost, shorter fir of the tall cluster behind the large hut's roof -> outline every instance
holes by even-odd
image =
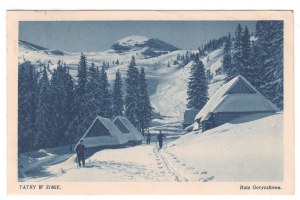
[[[223,53],[223,70],[227,76],[233,76],[234,70],[231,58],[231,35],[229,33]]]

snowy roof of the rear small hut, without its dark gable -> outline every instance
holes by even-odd
[[[126,118],[117,116],[114,119],[114,124],[119,127],[119,123],[122,123],[126,129],[129,131],[128,133],[123,133],[123,135],[129,140],[129,141],[139,141],[143,140],[142,134],[133,126],[133,124]],[[122,130],[121,130],[122,132]]]

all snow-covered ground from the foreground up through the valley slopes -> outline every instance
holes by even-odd
[[[129,37],[118,41],[122,45],[140,45],[145,38]],[[157,119],[150,130],[162,130],[168,139],[161,151],[153,137],[151,145],[123,149],[102,150],[86,160],[86,168],[78,168],[75,155],[69,147],[45,149],[19,155],[20,181],[280,181],[283,172],[283,114],[254,114],[237,118],[204,133],[191,132],[184,135],[181,122],[186,110],[187,82],[191,62],[185,66],[174,65],[176,50],[145,58],[145,47],[130,51],[86,53],[88,63],[100,67],[109,62],[107,71],[110,82],[119,69],[126,77],[130,59],[135,56],[138,67],[144,67],[148,92]],[[70,66],[76,80],[80,53],[64,52],[53,55],[42,51],[19,47],[19,62],[31,61],[36,66],[49,63],[50,71],[57,61]],[[222,64],[222,49],[209,53],[202,61],[213,74]],[[120,62],[113,65],[112,61]],[[168,64],[170,67],[167,67]],[[223,75],[214,76],[209,84],[209,97],[224,83]],[[178,139],[177,139],[178,138]],[[153,143],[155,141],[155,143]]]

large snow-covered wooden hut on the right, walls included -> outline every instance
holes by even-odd
[[[217,90],[195,120],[206,131],[237,117],[276,111],[278,108],[243,76],[236,76]]]

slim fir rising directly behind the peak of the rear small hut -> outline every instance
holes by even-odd
[[[116,72],[116,78],[113,88],[113,114],[114,116],[123,116],[124,100],[123,100],[123,82],[121,78],[120,70]]]

